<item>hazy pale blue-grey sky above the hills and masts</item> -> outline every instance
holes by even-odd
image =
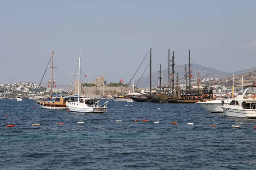
[[[255,67],[255,0],[0,3],[0,84],[39,84],[52,51],[57,85],[71,83],[80,51],[83,82],[129,82],[150,48],[152,72],[168,68],[168,49],[176,65],[188,64],[190,49],[192,64],[228,73]],[[148,53],[134,79],[149,74],[149,60]]]

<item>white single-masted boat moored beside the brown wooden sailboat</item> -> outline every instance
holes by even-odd
[[[103,105],[99,105],[100,98],[94,96],[79,96],[80,92],[80,57],[79,57],[79,74],[78,74],[78,100],[72,102],[66,102],[69,111],[73,112],[85,112],[85,113],[104,113],[107,112],[107,102]]]

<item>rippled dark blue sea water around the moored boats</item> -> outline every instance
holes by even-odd
[[[74,113],[1,99],[0,108],[0,170],[256,169],[256,120],[197,104],[110,99],[107,113]]]

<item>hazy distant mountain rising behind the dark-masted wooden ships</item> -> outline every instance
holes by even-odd
[[[168,68],[166,70],[164,70],[165,68],[162,68],[161,72],[163,72],[163,84],[167,85],[168,84]],[[213,74],[215,78],[218,79],[225,79],[228,77],[231,77],[233,75],[233,73],[227,73],[227,72],[223,72],[223,71],[218,71],[215,70],[213,68],[209,68],[209,67],[204,67],[203,65],[199,65],[199,64],[192,64],[191,67],[191,74],[193,75],[192,79],[196,79],[198,76],[198,73],[200,75],[200,78],[212,78]],[[241,75],[241,74],[246,74],[252,71],[255,71],[256,68],[251,68],[248,70],[241,70],[241,71],[236,71],[234,72],[234,75]],[[189,71],[189,67],[187,65],[187,73]],[[172,73],[172,67],[170,67],[170,74]],[[175,65],[175,81],[176,81],[176,76],[178,73],[178,80],[180,83],[185,81],[185,65]],[[157,85],[158,79],[159,79],[159,71],[156,72],[152,72],[152,81],[151,81],[151,87],[153,88],[154,86]],[[170,77],[171,78],[171,77]],[[137,84],[137,82],[139,81],[139,79],[134,80],[135,84]],[[145,75],[140,79],[140,82],[137,85],[138,88],[148,88],[150,87],[150,75]]]

